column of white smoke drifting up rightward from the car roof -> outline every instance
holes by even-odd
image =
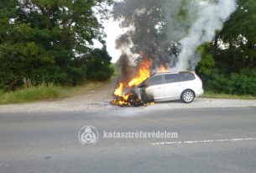
[[[211,42],[217,30],[221,30],[223,23],[236,10],[236,0],[197,0],[197,17],[185,38],[180,40],[180,54],[175,69],[185,70],[195,68],[200,61],[196,48],[202,43]],[[195,7],[195,4],[191,4]],[[189,8],[193,9],[193,8]],[[195,9],[195,8],[194,8]]]

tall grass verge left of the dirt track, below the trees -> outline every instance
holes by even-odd
[[[15,104],[33,102],[38,100],[61,99],[79,95],[101,86],[103,83],[90,82],[76,87],[61,87],[50,85],[32,86],[18,89],[13,92],[3,92],[0,90],[0,104]]]

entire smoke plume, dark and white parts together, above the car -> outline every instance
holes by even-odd
[[[235,9],[236,0],[123,0],[115,4],[114,18],[129,29],[117,48],[124,60],[148,58],[155,67],[195,69],[198,46],[211,42]]]

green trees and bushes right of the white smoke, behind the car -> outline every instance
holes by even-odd
[[[238,0],[238,9],[202,45],[197,72],[205,87],[218,93],[256,95],[256,2]]]

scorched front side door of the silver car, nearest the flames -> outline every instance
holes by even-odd
[[[165,98],[165,84],[163,75],[156,75],[151,77],[145,82],[145,85],[145,93],[149,98],[152,98],[156,101]]]

